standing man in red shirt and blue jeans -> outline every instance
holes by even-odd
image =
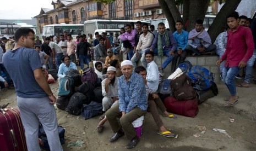
[[[239,68],[246,66],[246,62],[252,57],[254,42],[250,28],[239,26],[239,15],[236,11],[227,16],[227,24],[230,32],[227,34],[227,46],[224,55],[216,62],[217,66],[226,60],[222,71],[222,81],[230,91],[230,97],[226,97],[225,106],[233,106],[238,102],[235,77]]]

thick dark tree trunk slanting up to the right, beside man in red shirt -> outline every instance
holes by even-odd
[[[223,32],[227,24],[227,15],[235,11],[241,0],[227,0],[220,12],[216,15],[213,24],[209,27],[208,33],[211,37],[211,42],[215,42],[216,37]]]

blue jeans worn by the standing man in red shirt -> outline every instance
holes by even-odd
[[[224,67],[222,70],[222,81],[227,85],[231,96],[236,95],[235,77],[239,72],[238,67]]]

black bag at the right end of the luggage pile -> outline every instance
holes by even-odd
[[[197,92],[198,104],[203,103],[208,98],[214,97],[219,93],[216,83],[213,83],[213,85],[211,85],[211,88],[208,90],[204,90],[204,91],[197,90],[196,92]]]

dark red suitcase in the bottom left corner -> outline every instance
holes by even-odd
[[[28,150],[24,127],[18,109],[7,107],[0,111],[0,150]]]

